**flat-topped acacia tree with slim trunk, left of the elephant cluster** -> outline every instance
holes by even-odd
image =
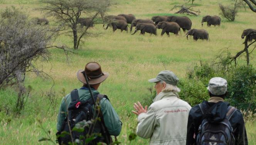
[[[93,35],[88,32],[87,26],[82,28],[77,25],[79,18],[84,16],[93,21],[99,15],[104,15],[111,6],[110,0],[42,0],[41,2],[45,6],[38,10],[54,17],[54,21],[60,26],[59,31],[64,31],[73,38],[74,49],[78,49],[84,35]]]

